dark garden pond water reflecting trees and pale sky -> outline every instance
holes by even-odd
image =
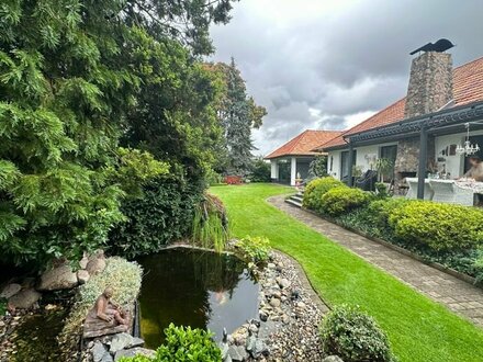
[[[162,343],[170,323],[210,329],[221,340],[257,316],[258,284],[233,256],[171,249],[139,260],[141,330],[148,348]]]

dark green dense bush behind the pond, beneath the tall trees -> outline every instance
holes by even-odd
[[[122,204],[127,220],[109,239],[110,251],[128,259],[159,251],[167,244],[189,236],[202,186],[181,178],[158,178],[138,199]]]

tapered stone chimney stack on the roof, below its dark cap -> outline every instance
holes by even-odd
[[[436,112],[452,99],[451,54],[426,52],[414,58],[404,116]]]

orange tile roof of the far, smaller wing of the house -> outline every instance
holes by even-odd
[[[316,151],[312,149],[327,140],[338,136],[340,131],[304,131],[299,136],[292,138],[283,146],[277,148],[273,152],[266,156],[266,159],[282,156],[313,156]]]

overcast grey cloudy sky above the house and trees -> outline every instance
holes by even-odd
[[[409,52],[447,37],[454,66],[483,56],[483,0],[242,0],[212,27],[258,104],[266,155],[300,132],[344,129],[404,97]]]

